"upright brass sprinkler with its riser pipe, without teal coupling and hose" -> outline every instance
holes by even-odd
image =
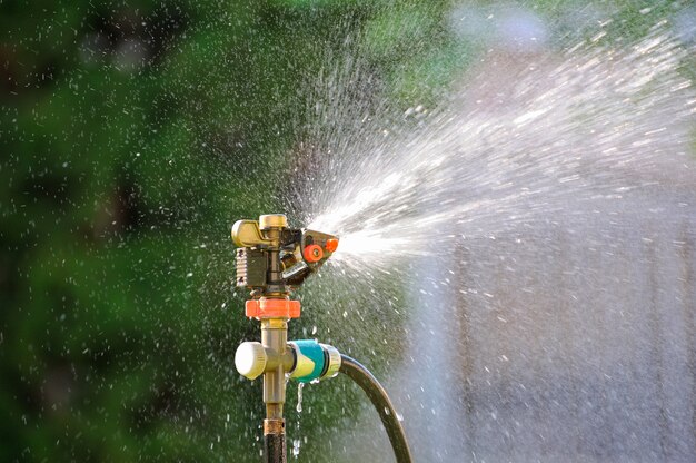
[[[261,323],[261,343],[240,345],[235,363],[250,380],[264,375],[266,461],[285,461],[286,373],[302,381],[307,366],[311,371],[311,365],[319,364],[302,355],[297,343],[288,344],[288,322],[300,315],[300,303],[290,299],[290,290],[319,269],[338,247],[338,238],[289,228],[285,215],[270,214],[258,221],[238,220],[232,226],[232,240],[239,247],[236,284],[251,295],[246,315]],[[327,358],[320,374],[336,374],[340,355],[334,347],[320,346]]]

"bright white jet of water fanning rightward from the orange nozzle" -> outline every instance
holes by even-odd
[[[679,72],[687,56],[662,28],[633,46],[491,56],[447,107],[405,111],[409,134],[375,118],[346,134],[368,139],[360,152],[332,140],[321,194],[305,195],[316,198],[304,205],[309,227],[340,236],[334,264],[389,270],[455,234],[487,239],[688,181],[696,100]]]

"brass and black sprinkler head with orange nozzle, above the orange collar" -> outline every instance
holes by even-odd
[[[338,248],[337,236],[290,228],[282,214],[238,220],[232,240],[238,246],[236,285],[249,289],[255,299],[289,294]]]

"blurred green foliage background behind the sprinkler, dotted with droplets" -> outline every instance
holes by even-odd
[[[229,229],[292,208],[312,134],[336,130],[314,110],[332,69],[359,61],[360,85],[325,105],[436,106],[491,47],[605,18],[606,40],[662,19],[696,38],[687,2],[0,1],[0,461],[258,461]],[[319,314],[292,329],[386,374],[399,314],[362,321],[390,328],[377,346]],[[338,380],[308,400],[288,406],[300,460],[335,461],[364,400]]]

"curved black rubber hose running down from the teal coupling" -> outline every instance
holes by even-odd
[[[377,378],[372,376],[369,370],[362,366],[360,362],[344,354],[341,354],[340,359],[341,364],[339,371],[355,381],[356,384],[365,391],[372,402],[372,405],[375,405],[375,408],[377,408],[381,424],[385,425],[385,430],[387,430],[387,434],[389,435],[389,442],[391,442],[396,461],[398,463],[411,463],[414,457],[408,449],[408,442],[406,442],[404,426],[401,426],[401,422],[387,395],[387,391],[385,391]]]

